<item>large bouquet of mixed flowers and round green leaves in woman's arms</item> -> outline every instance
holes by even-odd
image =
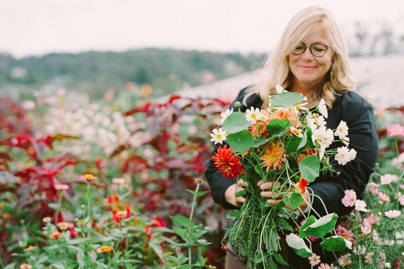
[[[335,172],[330,157],[334,156],[340,165],[356,157],[355,149],[347,147],[348,127],[341,121],[336,130],[326,128],[328,112],[324,99],[312,112],[303,107],[307,104],[302,103],[307,100],[304,95],[285,91],[279,85],[277,90],[266,109],[251,107],[245,113],[228,109],[222,113],[221,128],[211,134],[215,144],[227,143],[220,145],[213,156],[215,167],[224,177],[246,183],[236,193],[236,197],[245,197],[245,202],[227,215],[237,220],[227,229],[224,241],[247,258],[249,268],[276,268],[274,260],[287,265],[277,253],[281,250],[279,235],[287,231],[290,233],[286,243],[302,257],[315,258],[311,237],[322,238],[321,246],[328,251],[351,248],[350,241],[335,234],[337,214],[321,217],[309,205],[310,217],[306,217],[299,207],[305,200],[304,194],[311,201],[314,197],[320,199],[308,185],[320,172]],[[236,103],[236,107],[239,105]],[[334,141],[346,146],[328,149]],[[257,186],[260,180],[272,182],[268,191],[278,203],[270,204],[268,198],[261,196],[262,189]],[[302,225],[296,222],[299,216],[306,219]],[[297,235],[290,224],[298,227]],[[333,236],[324,238],[332,231]]]

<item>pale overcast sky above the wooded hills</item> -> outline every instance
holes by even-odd
[[[355,21],[404,33],[404,1],[1,0],[0,51],[48,52],[174,47],[267,52],[300,9],[330,9],[345,33]]]

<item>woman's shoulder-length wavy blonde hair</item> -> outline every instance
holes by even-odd
[[[332,14],[321,7],[309,7],[299,11],[288,23],[275,50],[268,56],[263,73],[257,85],[249,88],[244,97],[260,94],[263,107],[268,106],[269,95],[276,94],[275,85],[279,84],[288,89],[292,84],[292,74],[288,65],[288,54],[311,33],[312,29],[321,24],[333,49],[331,68],[319,83],[313,96],[306,106],[312,109],[324,98],[331,109],[335,95],[354,90],[356,88],[352,77],[348,59],[348,47],[342,37],[338,25]]]

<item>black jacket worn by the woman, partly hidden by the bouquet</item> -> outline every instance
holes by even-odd
[[[231,104],[230,108],[233,108],[234,111],[237,110],[234,106],[236,101],[241,102],[241,112],[245,112],[251,106],[261,108],[263,101],[257,94],[248,97],[246,106],[242,104],[247,88],[242,89]],[[341,120],[345,121],[349,128],[349,148],[354,148],[357,151],[357,157],[345,166],[340,166],[335,160],[331,160],[334,170],[341,172],[340,175],[326,176],[320,174],[309,185],[313,192],[321,197],[328,212],[335,212],[338,216],[342,216],[352,209],[346,208],[341,202],[345,190],[353,189],[357,193],[358,199],[362,199],[369,176],[374,171],[378,149],[373,107],[364,98],[352,91],[336,96],[332,109],[328,112],[328,119],[326,119],[327,128],[336,129]],[[218,145],[215,145],[214,153]],[[337,146],[342,146],[342,143],[334,142],[329,148],[336,148]],[[212,158],[209,160],[205,175],[215,202],[227,209],[236,208],[224,200],[226,189],[234,184],[234,181],[222,176],[222,173],[215,168]],[[321,216],[326,214],[322,203],[317,198],[313,200],[313,208]]]

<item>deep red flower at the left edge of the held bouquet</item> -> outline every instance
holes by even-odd
[[[225,178],[234,179],[239,173],[244,174],[244,168],[241,166],[240,160],[233,155],[233,150],[225,145],[224,147],[219,146],[213,156],[216,169],[222,172]]]

